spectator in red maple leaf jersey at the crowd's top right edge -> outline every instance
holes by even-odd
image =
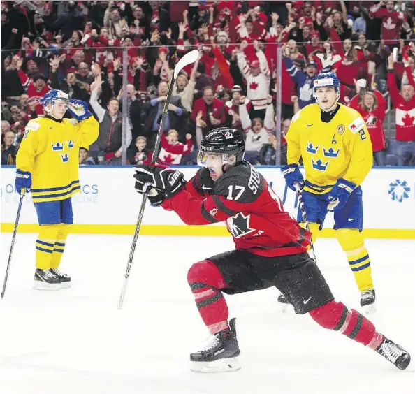
[[[381,39],[392,49],[399,46],[400,30],[402,23],[405,22],[405,15],[400,11],[395,11],[395,1],[379,1],[375,6],[370,8],[370,17],[381,18]]]

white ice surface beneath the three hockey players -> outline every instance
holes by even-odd
[[[187,285],[192,263],[233,249],[231,238],[140,236],[124,307],[117,309],[131,236],[70,235],[61,270],[71,289],[34,291],[35,234],[17,234],[0,302],[1,394],[409,394],[415,373],[324,330],[310,316],[282,314],[275,289],[227,297],[238,316],[242,370],[194,374],[189,353],[207,337]],[[1,234],[0,277],[11,234]],[[415,242],[367,240],[377,291],[371,317],[415,353]],[[337,300],[359,293],[335,240],[316,244]]]

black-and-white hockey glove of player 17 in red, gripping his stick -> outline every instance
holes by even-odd
[[[180,171],[168,167],[140,164],[134,169],[138,193],[145,193],[150,188],[160,191],[165,198],[171,198],[186,184]]]

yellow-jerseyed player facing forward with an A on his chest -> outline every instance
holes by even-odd
[[[375,293],[361,233],[360,185],[372,168],[372,143],[361,115],[337,102],[340,81],[334,73],[320,73],[313,90],[317,103],[296,113],[286,134],[287,166],[282,173],[291,189],[296,183],[303,189],[313,240],[319,236],[328,211],[334,212],[337,240],[361,291],[361,306],[371,311]],[[305,180],[298,168],[301,156]],[[298,221],[301,220],[298,212]]]

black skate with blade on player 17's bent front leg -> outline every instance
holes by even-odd
[[[229,330],[212,335],[204,349],[191,353],[190,370],[193,372],[235,372],[240,370],[240,350],[236,338],[235,318]]]

